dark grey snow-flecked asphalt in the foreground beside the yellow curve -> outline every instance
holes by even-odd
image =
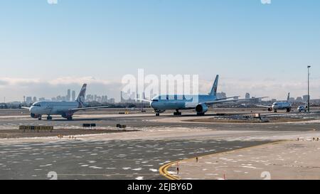
[[[267,141],[129,140],[50,141],[1,145],[0,179],[164,179],[169,161]]]

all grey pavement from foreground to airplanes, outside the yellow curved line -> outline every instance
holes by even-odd
[[[101,130],[114,130],[126,124],[120,133],[79,134],[77,139],[56,136],[0,139],[0,179],[48,179],[50,171],[60,179],[163,179],[158,169],[170,161],[219,153],[284,139],[320,137],[319,114],[306,122],[273,124],[230,124],[185,122],[194,117],[162,114],[117,114],[117,110],[85,112],[74,121],[54,117],[38,121],[21,110],[0,111],[0,130],[19,125],[53,125],[58,129],[80,129],[83,123],[96,123]],[[250,110],[239,110],[239,114]],[[291,113],[296,114],[296,113]],[[209,114],[213,117],[216,114]],[[309,117],[304,114],[303,117]],[[202,118],[202,117],[201,117]]]

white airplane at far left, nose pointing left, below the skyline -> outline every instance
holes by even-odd
[[[51,115],[61,115],[61,117],[72,120],[73,114],[80,110],[87,109],[101,109],[107,108],[104,107],[83,107],[85,102],[85,91],[87,90],[87,84],[82,86],[78,99],[75,102],[49,102],[49,101],[40,101],[32,104],[31,107],[21,107],[22,109],[28,109],[31,112],[31,117],[34,119],[41,120],[42,115],[48,115],[47,120],[52,120]]]

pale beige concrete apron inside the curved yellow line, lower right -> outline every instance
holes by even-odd
[[[320,141],[280,141],[178,162],[173,178],[208,180],[319,180]]]

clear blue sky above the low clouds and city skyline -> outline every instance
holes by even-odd
[[[319,81],[319,9],[318,0],[1,1],[0,84],[1,77],[117,82],[137,68],[198,74],[208,81],[219,73],[230,82],[302,83],[309,64],[312,79]],[[319,97],[319,84],[314,90]],[[21,99],[14,95],[22,94],[8,94]]]

